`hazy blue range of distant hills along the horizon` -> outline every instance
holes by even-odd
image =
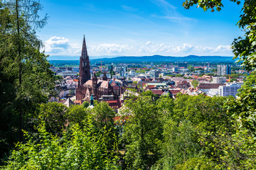
[[[55,59],[55,57],[49,57],[50,59]],[[79,57],[74,57],[74,60],[66,60],[68,57],[60,57],[61,60],[50,60],[52,64],[79,64]],[[90,57],[90,62],[92,63],[131,63],[131,62],[210,62],[210,63],[234,63],[233,57],[223,57],[223,56],[197,56],[188,55],[186,57],[171,57],[162,55],[153,56],[142,56],[142,57],[112,57],[112,58],[98,58]],[[69,57],[70,59],[70,57]],[[72,58],[71,58],[72,59]]]

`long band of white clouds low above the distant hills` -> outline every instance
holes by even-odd
[[[68,38],[52,37],[45,42],[45,49],[49,55],[80,55],[82,43],[70,43]],[[102,43],[99,45],[87,45],[90,56],[97,55],[232,55],[230,45],[218,45],[218,47],[193,46],[188,43],[183,45],[154,44],[147,41],[144,45],[122,45],[117,43]]]

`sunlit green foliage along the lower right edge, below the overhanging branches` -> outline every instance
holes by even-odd
[[[223,169],[255,169],[255,83],[256,74],[247,77],[236,100],[225,103],[230,115],[230,130],[221,130],[215,147],[222,149],[218,167]]]

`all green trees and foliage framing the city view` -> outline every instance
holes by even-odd
[[[194,4],[223,7],[220,0],[183,6]],[[233,42],[248,71],[256,63],[255,6],[244,1],[238,26],[245,37]],[[1,169],[256,169],[256,72],[238,98],[130,96],[122,121],[105,102],[48,103],[54,76],[36,36],[47,19],[38,16],[41,8],[38,1],[0,2]]]

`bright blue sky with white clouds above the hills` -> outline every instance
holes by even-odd
[[[50,56],[80,56],[85,35],[88,55],[233,56],[230,45],[242,36],[236,26],[242,4],[223,1],[218,12],[185,0],[41,0],[48,24],[38,36]]]

